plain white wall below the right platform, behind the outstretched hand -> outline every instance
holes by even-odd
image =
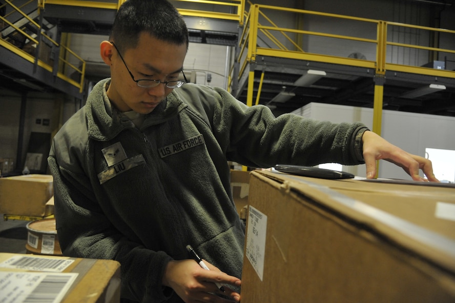
[[[293,113],[335,123],[362,122],[368,128],[373,128],[373,109],[370,108],[311,103]],[[455,117],[389,110],[382,112],[381,136],[403,150],[422,157],[425,157],[425,148],[455,150],[453,130],[455,130]],[[343,166],[343,170],[365,176],[365,165]],[[401,168],[387,161],[380,161],[378,176],[409,179]]]

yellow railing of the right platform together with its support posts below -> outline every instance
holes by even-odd
[[[455,50],[453,49],[442,49],[436,46],[421,45],[419,43],[412,44],[410,42],[403,43],[402,41],[392,41],[393,34],[391,37],[388,35],[388,32],[392,32],[392,27],[398,28],[398,31],[414,29],[432,34],[449,35],[448,41],[455,41],[455,31],[453,30],[413,26],[402,23],[385,22],[375,19],[357,18],[315,11],[257,5],[250,2],[249,4],[250,10],[249,12],[245,12],[243,31],[238,39],[238,56],[235,58],[235,63],[230,69],[227,87],[228,90],[232,91],[235,83],[233,79],[243,79],[243,75],[246,77],[247,73],[246,104],[249,106],[253,105],[255,92],[255,71],[254,68],[251,68],[250,64],[256,64],[259,56],[297,59],[302,62],[321,62],[351,67],[362,67],[373,71],[373,75],[375,76],[373,131],[379,135],[381,134],[382,128],[384,90],[383,79],[386,71],[455,78],[455,71],[433,69],[418,65],[412,66],[404,64],[404,62],[399,63],[398,60],[397,62],[393,62],[394,60],[391,59],[391,56],[388,56],[388,53],[394,51],[394,48],[433,52],[433,58],[444,57],[444,55],[447,54],[455,54]],[[272,18],[267,17],[267,12],[272,13],[276,20],[273,21]],[[279,17],[276,18],[276,16]],[[353,35],[353,32],[357,31],[348,31],[347,33],[343,32],[343,30],[345,31],[345,29],[348,28],[347,26],[340,26],[336,29],[332,27],[330,28],[332,32],[324,30],[303,30],[301,29],[303,28],[301,24],[302,20],[305,20],[305,18],[319,18],[322,20],[335,18],[338,23],[346,22],[349,23],[350,26],[353,26],[355,23],[355,26],[362,27],[362,36]],[[289,24],[289,21],[294,21],[293,25],[298,24],[298,26],[286,26],[286,24]],[[278,25],[280,23],[284,23],[285,25]],[[311,25],[312,20],[310,20],[308,24]],[[318,24],[324,24],[324,22],[322,21]],[[295,27],[297,27],[297,29]],[[320,43],[320,45],[324,45],[324,50],[326,52],[324,53],[322,48],[316,49],[312,52],[311,50],[313,49],[315,43],[307,43],[305,45],[303,39],[305,36],[324,39],[324,43]],[[344,44],[337,43],[340,41],[343,41]],[[349,45],[351,49],[354,48],[353,44],[356,44],[356,47],[361,45],[362,48],[368,50],[369,55],[371,57],[374,56],[375,59],[367,60],[366,58],[356,58],[350,56],[342,57],[340,55],[340,49],[342,49],[342,47],[346,47],[346,41],[351,44]],[[305,50],[305,48],[307,50]],[[372,53],[374,55],[371,55]],[[430,62],[430,54],[426,57],[428,57],[428,60],[425,63]],[[260,62],[260,60],[258,62]],[[247,70],[247,68],[249,68],[249,70]],[[259,104],[260,101],[264,73],[265,68],[263,67],[259,80],[259,86],[256,90],[256,102],[254,103],[256,105]]]

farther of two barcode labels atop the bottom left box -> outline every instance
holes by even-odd
[[[74,260],[67,258],[13,256],[0,263],[0,267],[33,271],[63,272]]]

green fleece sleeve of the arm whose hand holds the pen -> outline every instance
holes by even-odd
[[[54,138],[48,163],[54,177],[55,217],[63,254],[120,262],[124,298],[163,302],[175,295],[161,284],[171,257],[143,248],[115,228],[97,203],[90,180],[79,162],[83,155],[76,155],[71,145],[60,143],[68,146],[68,150],[56,151]],[[74,150],[83,153],[82,149]]]

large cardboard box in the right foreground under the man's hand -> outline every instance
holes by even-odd
[[[455,188],[251,174],[242,302],[454,302]]]

